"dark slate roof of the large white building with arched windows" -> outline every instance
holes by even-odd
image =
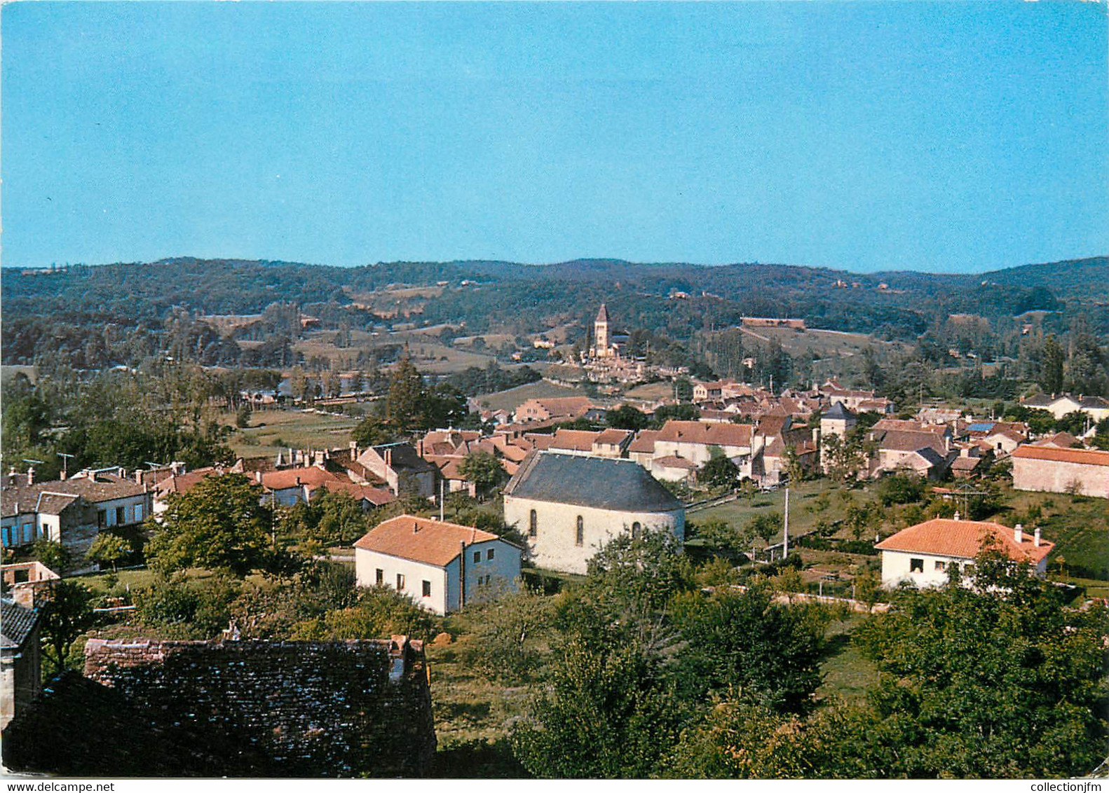
[[[532,452],[505,488],[506,496],[617,512],[673,512],[674,498],[639,463]]]

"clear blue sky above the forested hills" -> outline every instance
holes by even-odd
[[[0,13],[4,265],[1109,253],[1103,2]]]

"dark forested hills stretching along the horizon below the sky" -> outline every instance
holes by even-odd
[[[862,275],[757,262],[702,266],[617,259],[344,268],[181,257],[58,272],[6,268],[0,282],[3,361],[33,358],[50,337],[70,347],[83,333],[104,327],[154,332],[182,312],[261,313],[282,302],[321,317],[325,328],[369,327],[381,319],[358,305],[399,286],[435,288],[418,298],[423,321],[465,322],[475,332],[503,328],[521,334],[566,320],[589,321],[603,300],[623,328],[679,340],[735,325],[743,316],[801,317],[811,327],[912,340],[953,313],[979,315],[1011,327],[1016,317],[1032,310],[1052,312],[1045,319],[1049,329],[1065,330],[1081,312],[1095,332],[1109,334],[1106,257],[981,275]]]

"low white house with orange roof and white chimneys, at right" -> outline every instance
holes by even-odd
[[[1027,562],[1038,575],[1047,573],[1047,556],[1055,547],[1040,537],[987,521],[933,518],[902,529],[878,543],[882,552],[882,585],[894,587],[912,581],[917,587],[947,583],[948,570],[967,571],[974,558],[988,545],[996,546],[1014,562]]]

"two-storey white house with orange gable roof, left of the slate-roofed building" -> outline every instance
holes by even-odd
[[[456,523],[400,515],[354,544],[358,586],[387,586],[419,606],[447,614],[516,591],[520,548],[496,534]]]

